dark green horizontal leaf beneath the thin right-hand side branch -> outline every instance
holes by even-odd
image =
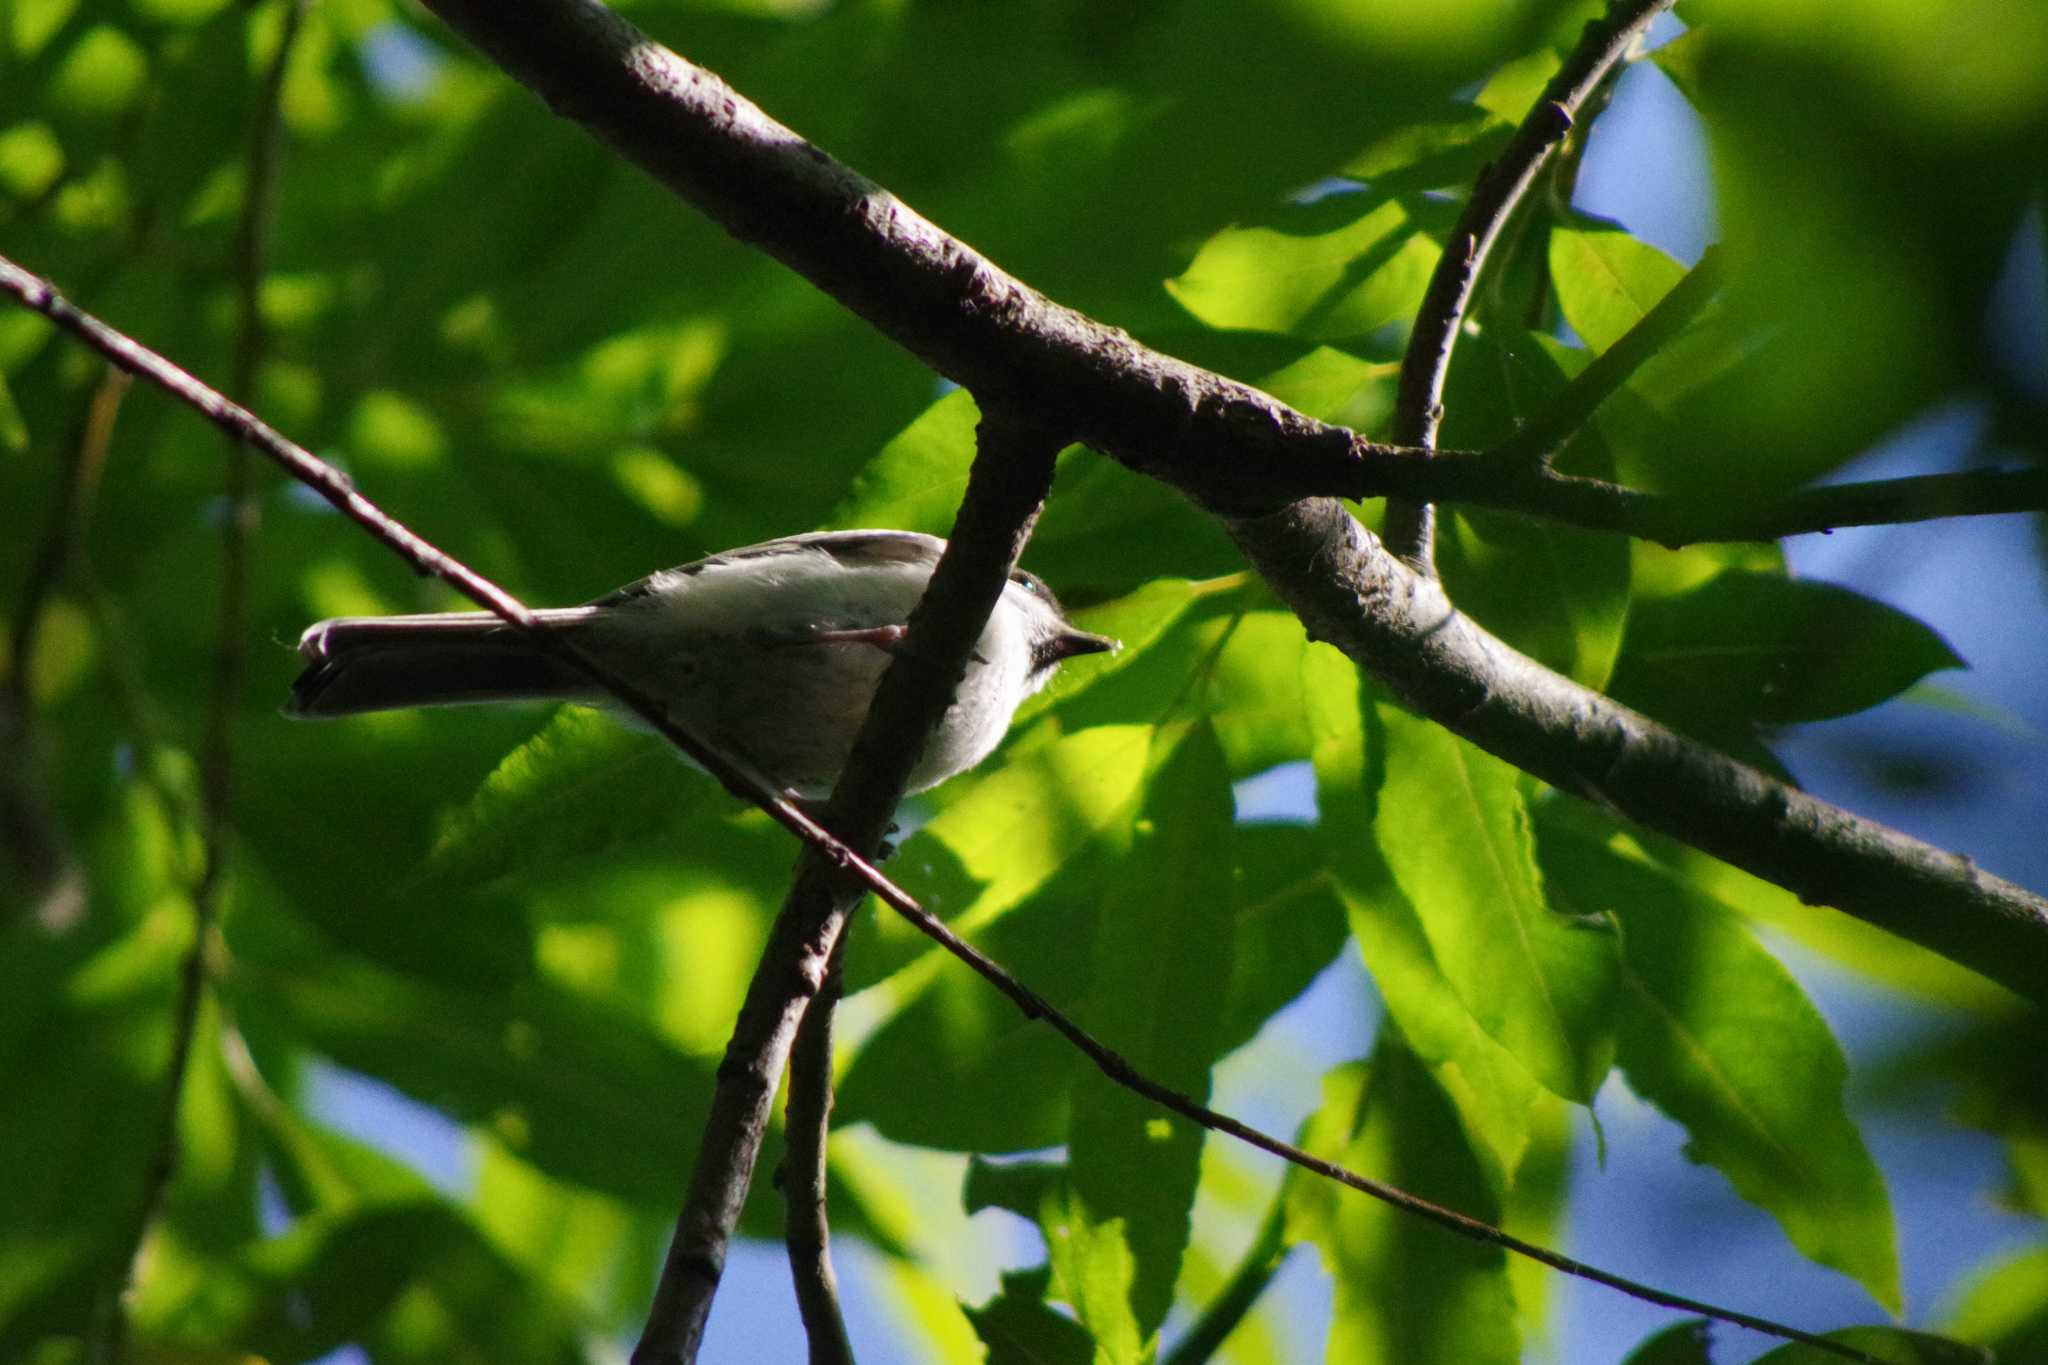
[[[1784,724],[1866,710],[1937,669],[1939,634],[1847,587],[1720,573],[1628,618],[1614,696],[1657,716]]]

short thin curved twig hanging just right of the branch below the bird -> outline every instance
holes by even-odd
[[[854,1345],[840,1314],[840,1279],[831,1273],[831,1220],[825,1207],[825,1140],[831,1130],[831,1025],[838,1017],[846,964],[846,931],[831,945],[825,980],[797,1025],[788,1054],[784,1101],[782,1242],[797,1281],[797,1312],[811,1342],[811,1365],[852,1365]]]

